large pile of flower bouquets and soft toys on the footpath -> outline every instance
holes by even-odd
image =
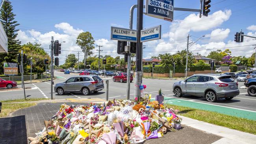
[[[180,128],[178,110],[150,102],[150,97],[107,104],[62,104],[45,121],[43,131],[28,140],[31,144],[134,144]]]

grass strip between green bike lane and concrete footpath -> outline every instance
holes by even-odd
[[[182,107],[177,105],[167,104],[167,107],[173,109],[178,109],[178,113],[181,116],[186,116],[188,118],[193,118],[195,120],[200,120],[203,122],[208,122],[210,124],[215,124],[217,126],[228,127],[230,129],[236,129],[238,131],[243,131],[246,133],[251,133],[256,135],[256,121],[248,120],[246,118],[238,118],[236,116],[229,116],[226,114],[204,111],[200,109],[194,109],[190,107]]]

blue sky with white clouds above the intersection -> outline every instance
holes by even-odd
[[[66,41],[63,50],[80,51],[76,46],[76,36],[82,31],[92,33],[97,44],[103,45],[102,55],[117,56],[116,41],[110,40],[110,27],[117,26],[129,28],[129,10],[137,0],[10,0],[13,5],[19,39],[39,42],[48,48],[50,36],[54,40]],[[168,22],[158,18],[143,16],[143,28],[162,26],[162,39],[145,42],[146,48],[143,57],[158,55],[161,52],[184,50],[186,48],[187,34],[192,35],[190,41],[206,35],[191,47],[193,53],[207,55],[206,48],[224,48],[256,44],[252,39],[245,39],[243,43],[235,43],[234,34],[241,28],[245,34],[256,35],[255,0],[211,0],[209,16],[199,19],[198,13],[187,11],[174,11],[174,21]],[[144,0],[144,3],[146,0]],[[199,8],[200,0],[174,0],[174,7]],[[134,13],[134,29],[136,29],[136,15]],[[249,28],[249,26],[251,26]],[[250,56],[253,46],[230,49],[232,55]],[[240,50],[240,51],[239,51]],[[247,52],[241,54],[241,50]],[[66,54],[77,52],[63,52]],[[60,64],[64,62],[61,59]]]

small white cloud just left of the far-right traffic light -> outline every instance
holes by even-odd
[[[210,41],[224,41],[228,37],[228,34],[230,33],[230,30],[227,28],[226,30],[224,29],[215,29],[211,31],[210,35]]]

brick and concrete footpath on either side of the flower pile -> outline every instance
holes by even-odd
[[[62,103],[83,105],[91,102],[106,101],[85,98],[43,100],[37,101],[33,107],[15,111],[7,118],[0,118],[0,144],[27,144],[26,138],[35,137],[35,133],[44,128],[43,121],[50,119]],[[144,144],[256,144],[256,135],[181,117],[182,129],[147,140]]]

